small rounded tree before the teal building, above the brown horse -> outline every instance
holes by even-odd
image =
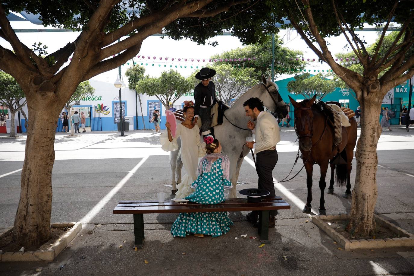
[[[294,94],[303,95],[306,99],[310,99],[313,95],[322,97],[323,94],[329,94],[336,88],[335,81],[327,79],[322,73],[310,76],[309,73],[295,75],[295,80],[291,80],[287,84],[287,90]]]

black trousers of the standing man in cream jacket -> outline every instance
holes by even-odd
[[[258,188],[265,189],[270,192],[268,198],[276,196],[274,192],[272,171],[277,163],[277,151],[276,150],[263,150],[256,154],[256,171],[259,176]],[[270,211],[271,216],[277,215],[277,210]],[[255,219],[259,217],[259,211],[252,211],[251,218]]]

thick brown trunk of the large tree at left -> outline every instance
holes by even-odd
[[[28,103],[30,123],[13,230],[14,240],[22,246],[40,245],[51,234],[53,145],[58,109],[47,105]]]

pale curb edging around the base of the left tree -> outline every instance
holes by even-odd
[[[5,252],[0,253],[0,262],[2,261],[53,261],[60,252],[65,249],[67,245],[72,242],[77,233],[82,230],[81,222],[72,222],[72,223],[53,223],[52,228],[65,228],[67,226],[72,226],[72,228],[60,239],[58,239],[51,249],[46,250],[36,250],[28,252]],[[10,229],[12,230],[12,229]],[[10,230],[8,232],[10,232]],[[8,233],[7,232],[7,233]],[[7,234],[4,234],[7,235]],[[3,236],[3,235],[2,235]]]

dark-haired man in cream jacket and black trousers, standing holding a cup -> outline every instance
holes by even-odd
[[[247,127],[255,134],[255,142],[246,142],[248,148],[254,148],[256,154],[256,172],[259,176],[258,188],[270,192],[268,197],[276,196],[274,192],[272,171],[277,163],[276,144],[280,141],[279,125],[274,116],[264,111],[263,102],[259,98],[250,98],[244,104],[246,116],[253,121],[248,121]],[[270,211],[269,227],[274,227],[277,210]],[[258,211],[248,213],[247,220],[258,226]]]

